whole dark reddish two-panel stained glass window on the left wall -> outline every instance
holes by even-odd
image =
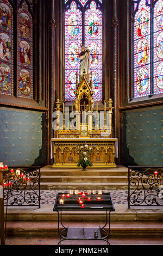
[[[33,99],[31,8],[32,0],[0,0],[0,94]]]

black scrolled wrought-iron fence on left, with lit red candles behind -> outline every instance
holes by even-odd
[[[39,206],[40,167],[13,167],[3,173],[4,206]]]

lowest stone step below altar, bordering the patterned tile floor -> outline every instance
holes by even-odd
[[[126,182],[40,182],[41,190],[109,190],[128,188]]]

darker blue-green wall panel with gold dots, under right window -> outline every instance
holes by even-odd
[[[123,111],[123,164],[163,165],[163,106]]]

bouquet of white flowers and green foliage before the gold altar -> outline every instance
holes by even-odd
[[[77,166],[82,166],[83,170],[86,170],[86,167],[92,166],[92,163],[90,161],[90,154],[95,145],[93,145],[93,147],[89,147],[89,145],[87,145],[85,142],[84,145],[80,146],[80,148],[78,147],[78,145],[76,145],[76,147],[79,152],[79,160]]]

